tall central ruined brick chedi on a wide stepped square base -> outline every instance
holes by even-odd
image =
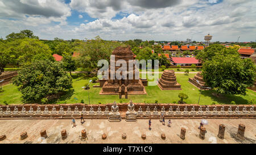
[[[104,85],[102,86],[100,95],[119,95],[119,98],[122,98],[122,95],[125,95],[125,98],[127,98],[128,94],[147,94],[141,79],[139,79],[139,77],[135,78],[135,72],[139,72],[136,65],[133,65],[133,69],[132,69],[133,78],[129,78],[129,60],[134,61],[133,60],[134,54],[133,54],[133,51],[131,51],[131,48],[117,47],[112,52],[112,56],[115,56],[115,59],[110,60],[110,65],[111,63],[116,63],[118,60],[126,62],[127,70],[125,70],[125,72],[127,74],[125,75],[122,72],[120,72],[120,74],[121,76],[124,76],[124,75],[127,76],[127,79],[123,79],[123,78],[117,79],[117,77],[115,77],[114,79],[110,79],[110,74],[113,74],[113,73],[110,72],[110,67],[109,67],[109,75],[108,75],[109,78],[105,80],[105,82],[104,82],[104,79],[102,80],[104,82]],[[117,73],[117,70],[121,68],[121,66],[115,65],[115,68],[114,68],[115,73]]]

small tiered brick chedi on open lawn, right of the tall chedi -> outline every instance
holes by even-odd
[[[158,86],[162,90],[181,90],[181,85],[176,81],[174,70],[164,70],[158,81]]]

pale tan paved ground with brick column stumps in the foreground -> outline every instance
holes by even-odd
[[[168,120],[166,120],[167,122]],[[205,139],[199,138],[200,119],[174,119],[172,127],[162,125],[159,120],[152,120],[152,129],[148,129],[148,120],[137,122],[109,122],[108,120],[88,119],[84,124],[76,120],[77,126],[72,128],[71,120],[65,119],[31,119],[31,120],[0,120],[0,135],[5,134],[6,139],[0,143],[240,143],[234,137],[237,133],[238,124],[245,124],[245,141],[242,143],[256,143],[256,120],[255,119],[208,119],[205,125],[207,133]],[[226,125],[224,140],[218,139],[218,125]],[[185,140],[179,137],[180,128],[186,128]],[[46,129],[47,139],[40,137],[40,130]],[[60,131],[66,129],[68,137],[61,139]],[[86,129],[88,138],[80,139],[81,130]],[[20,140],[21,132],[26,131],[27,139]],[[127,139],[121,138],[125,132]],[[106,133],[107,139],[102,140],[102,133]],[[146,140],[141,139],[141,134],[146,133]],[[166,134],[166,140],[162,140],[161,133]]]

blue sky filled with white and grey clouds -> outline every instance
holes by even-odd
[[[0,0],[0,37],[255,41],[255,0]]]

